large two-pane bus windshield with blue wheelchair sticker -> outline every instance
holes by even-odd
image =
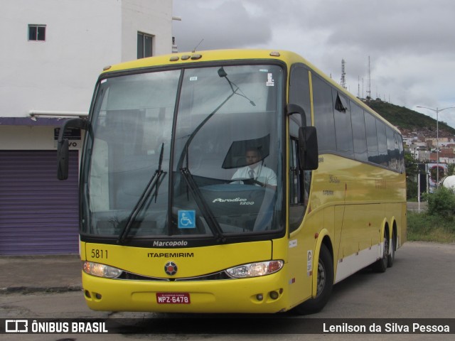
[[[283,70],[223,65],[100,80],[81,234],[224,240],[283,228]]]

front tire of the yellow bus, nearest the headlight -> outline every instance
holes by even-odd
[[[318,313],[330,298],[333,288],[333,259],[326,245],[321,245],[318,261],[318,281],[316,297],[297,305],[294,312],[299,315]]]

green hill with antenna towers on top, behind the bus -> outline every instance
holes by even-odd
[[[364,101],[364,103],[387,119],[391,124],[397,126],[405,136],[409,136],[412,132],[417,132],[417,134],[427,137],[436,136],[437,122],[432,117],[414,112],[414,110],[405,107],[382,102],[380,99]],[[454,137],[454,135],[454,128],[443,121],[439,121],[440,137]]]

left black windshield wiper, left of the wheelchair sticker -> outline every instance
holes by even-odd
[[[159,185],[161,184],[161,182],[160,182],[161,176],[163,174],[166,174],[166,172],[161,170],[161,164],[163,163],[163,150],[164,150],[164,144],[161,144],[161,152],[159,154],[158,168],[156,169],[154,175],[151,176],[149,183],[144,188],[144,191],[142,192],[141,196],[139,197],[139,200],[137,200],[136,205],[134,205],[133,210],[129,214],[129,217],[127,219],[127,224],[125,224],[124,228],[122,229],[122,232],[120,232],[119,239],[117,239],[117,244],[122,244],[125,241],[125,239],[127,239],[129,231],[131,230],[134,222],[136,222],[139,212],[141,212],[142,207],[144,207],[146,200],[150,197],[150,195],[152,194],[153,191],[154,191],[154,193],[151,195],[151,197],[152,197],[152,199],[153,199],[153,197],[155,197],[155,202],[156,202],[156,198],[158,197]]]

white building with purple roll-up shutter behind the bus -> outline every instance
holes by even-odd
[[[105,65],[171,53],[172,1],[2,0],[0,255],[77,252],[81,148],[56,180],[55,128],[86,115]]]

